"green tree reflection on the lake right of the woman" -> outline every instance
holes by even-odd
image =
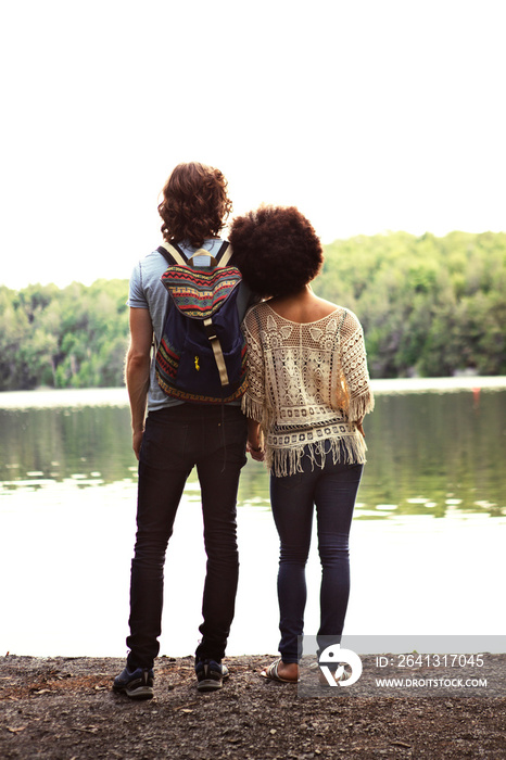
[[[401,515],[501,515],[504,391],[383,395],[367,423],[365,507]],[[382,508],[383,507],[383,508]]]

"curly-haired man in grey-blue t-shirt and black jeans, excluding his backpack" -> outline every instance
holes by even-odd
[[[180,164],[170,174],[159,205],[164,240],[176,243],[187,258],[202,248],[216,255],[223,244],[219,232],[230,210],[227,182],[218,169],[198,163]],[[198,262],[198,266],[208,263]],[[236,502],[240,470],[245,464],[246,421],[240,398],[218,405],[186,403],[166,395],[159,385],[155,352],[152,355],[151,347],[153,335],[159,345],[163,331],[168,295],[161,276],[166,268],[160,251],[146,256],[134,269],[128,299],[130,346],[126,383],[139,485],[129,654],[113,688],[134,699],[153,696],[165,549],[193,466],[201,486],[207,555],[203,623],[199,629],[202,639],[195,651],[197,687],[202,692],[220,688],[228,675],[222,659],[233,618],[239,568]],[[246,300],[245,290],[240,291],[240,319]],[[184,581],[177,579],[178,583]],[[176,623],[174,619],[173,624]]]

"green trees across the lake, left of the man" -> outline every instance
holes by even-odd
[[[123,383],[126,280],[0,288],[0,390]]]

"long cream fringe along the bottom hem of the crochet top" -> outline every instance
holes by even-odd
[[[332,463],[343,465],[365,465],[367,445],[358,430],[353,435],[324,439],[303,446],[292,448],[274,448],[268,444],[265,447],[265,465],[276,478],[284,478],[303,472],[302,457],[305,453],[311,457],[312,469],[325,467],[328,456],[332,456]]]

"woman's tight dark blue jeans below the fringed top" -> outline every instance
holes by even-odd
[[[317,636],[339,642],[350,596],[349,535],[363,465],[332,464],[312,470],[307,454],[303,472],[270,477],[270,503],[280,539],[278,572],[279,651],[283,662],[300,659],[299,636],[304,631],[305,566],[309,554],[313,510],[316,506],[318,552],[321,561],[320,626]]]

